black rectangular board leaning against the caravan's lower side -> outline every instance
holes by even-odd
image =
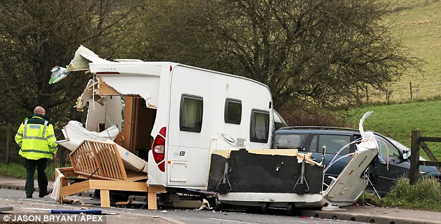
[[[254,154],[247,150],[232,150],[229,158],[211,155],[209,191],[219,192],[222,186],[225,187],[222,184],[225,162],[229,166],[229,192],[296,193],[294,185],[302,168],[296,157]],[[307,193],[320,193],[323,167],[306,163],[305,180],[310,188]]]

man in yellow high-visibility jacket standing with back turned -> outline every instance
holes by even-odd
[[[20,146],[19,155],[24,157],[26,167],[26,198],[32,198],[33,175],[37,167],[38,188],[40,198],[47,196],[47,160],[56,157],[58,150],[54,127],[45,117],[43,107],[35,107],[33,115],[24,119],[15,135],[15,142]]]

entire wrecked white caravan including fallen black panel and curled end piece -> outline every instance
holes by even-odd
[[[94,76],[77,102],[78,110],[89,103],[86,131],[71,135],[102,137],[116,126],[111,139],[127,157],[148,158],[147,184],[168,192],[214,191],[223,203],[285,207],[291,214],[295,207],[350,205],[378,153],[374,135],[362,128],[367,113],[360,120],[363,141],[324,187],[323,166],[310,155],[271,149],[277,120],[262,83],[173,62],[104,60],[83,46],[67,69],[53,69],[51,82],[77,70]]]

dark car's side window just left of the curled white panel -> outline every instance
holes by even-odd
[[[337,152],[346,146],[339,155],[349,153],[348,144],[351,142],[351,136],[348,135],[319,135],[319,153],[323,153],[323,146],[326,146],[326,154],[337,154]]]

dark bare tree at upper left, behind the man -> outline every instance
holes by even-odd
[[[0,122],[21,121],[36,105],[58,123],[82,121],[72,110],[88,75],[71,74],[49,85],[52,67],[65,66],[80,44],[110,55],[119,26],[128,10],[113,1],[0,2]]]

